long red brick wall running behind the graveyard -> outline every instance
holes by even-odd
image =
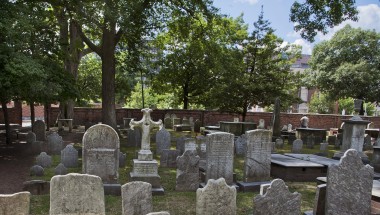
[[[56,121],[59,113],[58,108],[51,108],[51,124]],[[101,122],[101,109],[99,108],[75,108],[74,124],[84,125],[86,122],[97,123]],[[233,121],[235,117],[241,116],[234,113],[218,112],[218,111],[200,111],[200,110],[154,110],[151,114],[154,120],[164,119],[165,114],[176,114],[178,118],[193,117],[194,120],[199,119],[203,125],[217,125],[219,121]],[[299,127],[300,119],[303,114],[298,113],[281,113],[281,125],[292,124],[293,128]],[[309,127],[311,128],[338,128],[342,123],[342,119],[349,119],[352,116],[341,116],[334,114],[307,114],[309,117]],[[142,113],[140,109],[116,109],[117,124],[123,124],[123,118],[141,119]],[[247,113],[246,121],[258,122],[259,119],[265,120],[265,125],[270,125],[272,113],[266,112],[249,112]],[[375,127],[380,127],[380,117],[362,117],[363,119],[374,122]]]

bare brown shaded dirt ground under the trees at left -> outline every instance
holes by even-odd
[[[4,130],[0,131],[0,194],[21,192],[23,182],[29,180],[29,169],[34,165],[36,155],[30,154],[25,135],[31,128],[20,128],[18,136],[12,132],[12,144],[5,144]],[[51,128],[57,131],[57,128]],[[61,131],[64,143],[82,141],[84,129],[74,129],[72,133]]]

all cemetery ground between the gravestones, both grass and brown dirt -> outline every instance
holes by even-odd
[[[56,127],[51,128],[51,131],[57,131]],[[191,135],[195,137],[195,133],[187,132],[174,132],[169,130],[172,135],[171,149],[175,149],[175,139],[182,135]],[[63,137],[64,143],[74,143],[75,148],[81,154],[81,142],[84,134],[84,127],[74,129],[72,133],[68,131],[61,131],[59,134]],[[1,183],[0,193],[15,193],[22,191],[22,183],[27,180],[45,180],[50,181],[54,176],[54,168],[59,164],[60,156],[53,155],[53,164],[50,168],[45,168],[45,175],[42,177],[29,176],[29,169],[35,163],[37,155],[31,155],[26,150],[26,143],[17,141],[11,146],[4,144],[3,134],[1,134],[1,151],[0,151],[0,171]],[[155,137],[155,132],[151,133]],[[22,137],[19,138],[22,140]],[[136,155],[138,147],[126,147],[126,136],[120,133],[120,151],[127,154],[126,167],[119,169],[119,183],[121,185],[129,182],[129,173],[132,171],[132,159]],[[286,141],[285,141],[286,143]],[[152,152],[155,152],[155,141],[152,138]],[[337,152],[334,146],[329,145],[328,157]],[[285,144],[283,149],[277,150],[278,153],[290,153],[291,146]],[[319,152],[319,146],[314,149],[303,148],[302,153],[314,154]],[[366,151],[366,154],[371,158],[371,151]],[[160,158],[154,153],[154,158],[159,162]],[[243,155],[236,155],[234,160],[234,172],[236,173],[237,181],[243,179],[244,171],[244,157]],[[81,156],[79,156],[79,164],[77,168],[68,168],[68,172],[81,173]],[[9,173],[9,174],[8,174]],[[154,211],[168,211],[170,214],[195,214],[196,205],[196,192],[179,192],[175,190],[176,186],[176,168],[159,167],[159,175],[161,176],[161,184],[165,189],[165,195],[153,196],[153,210]],[[274,178],[272,178],[274,179]],[[301,211],[312,210],[314,204],[314,197],[316,191],[316,182],[286,182],[291,192],[299,192],[302,194]],[[253,198],[259,192],[237,192],[236,204],[237,214],[245,215],[252,214],[253,212]],[[49,214],[49,195],[32,195],[30,214]],[[106,214],[122,214],[122,199],[121,196],[106,196],[105,197]]]

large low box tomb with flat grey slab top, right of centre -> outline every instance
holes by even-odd
[[[284,181],[315,181],[327,174],[327,167],[281,154],[271,155],[271,176]]]

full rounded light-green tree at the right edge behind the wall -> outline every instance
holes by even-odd
[[[329,41],[315,46],[309,61],[310,82],[333,100],[353,97],[378,101],[379,41],[380,34],[375,31],[346,25]]]

